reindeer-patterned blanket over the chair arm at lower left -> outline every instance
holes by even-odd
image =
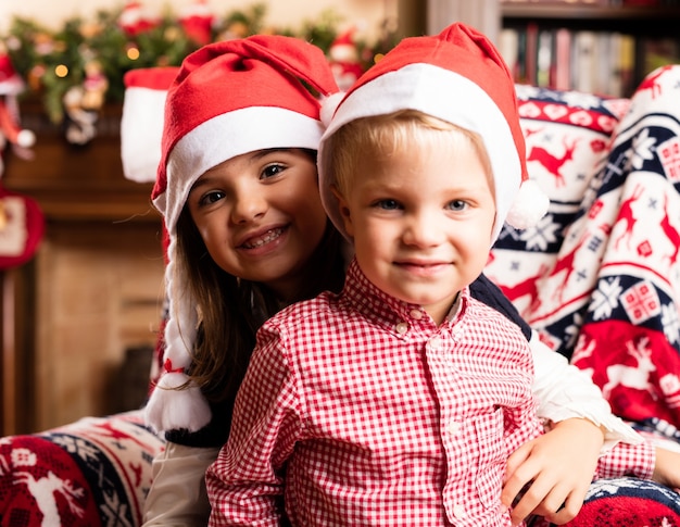
[[[0,526],[141,525],[163,442],[140,411],[0,439]]]

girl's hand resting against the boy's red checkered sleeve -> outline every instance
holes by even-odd
[[[572,519],[583,505],[603,442],[604,434],[593,423],[570,418],[517,449],[507,460],[501,494],[503,505],[513,507],[513,525],[530,514],[557,525]]]

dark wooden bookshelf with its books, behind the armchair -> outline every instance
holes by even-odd
[[[680,1],[640,3],[501,1],[498,45],[518,83],[628,97],[680,63]]]

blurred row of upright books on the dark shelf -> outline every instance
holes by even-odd
[[[499,50],[517,83],[628,97],[652,70],[680,63],[679,40],[529,23],[503,28]]]

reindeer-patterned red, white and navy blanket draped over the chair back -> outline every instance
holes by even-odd
[[[630,100],[518,95],[551,208],[503,230],[487,275],[617,415],[680,441],[680,66]]]

